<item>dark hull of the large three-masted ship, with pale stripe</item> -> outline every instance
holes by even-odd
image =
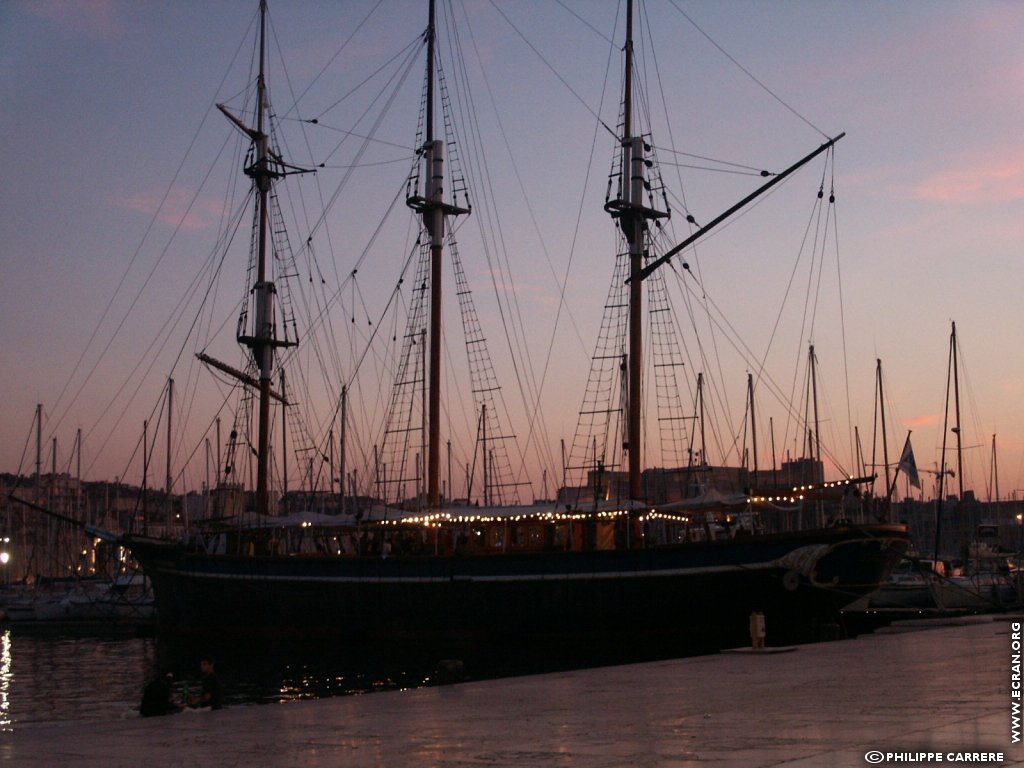
[[[714,650],[835,631],[902,557],[905,526],[872,524],[651,549],[451,556],[230,556],[127,538],[162,631],[352,642],[606,641]]]

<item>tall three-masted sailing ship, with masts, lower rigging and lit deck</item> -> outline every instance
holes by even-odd
[[[270,488],[271,407],[288,400],[283,378],[281,388],[275,387],[276,366],[297,336],[279,336],[285,302],[269,272],[279,258],[272,189],[284,176],[302,169],[287,163],[271,145],[263,71],[265,14],[264,0],[252,122],[220,108],[251,141],[245,173],[255,199],[255,255],[249,310],[237,334],[249,350],[250,371],[208,358],[219,372],[243,382],[255,400],[255,515],[245,518],[252,522],[242,522],[243,516],[230,517],[231,510],[222,508],[219,521],[202,526],[194,522],[187,537],[145,531],[117,537],[152,581],[164,631],[323,634],[370,642],[605,640],[632,647],[711,649],[744,642],[755,611],[765,614],[770,642],[817,639],[844,605],[877,589],[905,551],[907,531],[902,525],[846,519],[842,503],[851,498],[855,478],[825,482],[818,462],[811,476],[797,487],[786,484],[784,490],[778,483],[759,492],[757,485],[769,483],[766,474],[758,477],[756,471],[753,477],[734,472],[729,482],[716,485],[716,468],[708,464],[703,451],[690,451],[689,463],[676,470],[643,468],[644,288],[658,280],[662,265],[729,212],[659,258],[652,256],[652,231],[660,229],[669,213],[667,200],[662,206],[651,194],[656,183],[649,175],[649,137],[637,128],[632,2],[623,48],[616,157],[605,205],[625,243],[614,280],[624,294],[625,309],[617,322],[628,342],[625,349],[595,354],[598,376],[608,370],[623,374],[621,401],[606,409],[585,402],[587,416],[581,416],[581,423],[593,426],[594,415],[602,414],[597,426],[605,436],[598,445],[590,433],[578,433],[572,456],[563,465],[578,471],[580,479],[569,482],[566,470],[557,500],[532,506],[511,504],[514,495],[498,494],[504,485],[495,478],[506,435],[492,421],[497,409],[487,400],[486,386],[474,388],[483,506],[471,506],[469,499],[464,506],[455,505],[450,501],[452,480],[445,484],[441,479],[442,259],[454,222],[471,208],[465,195],[458,197],[465,191],[461,181],[453,184],[456,196],[449,191],[451,141],[440,135],[434,114],[435,103],[446,100],[443,93],[435,93],[437,36],[430,0],[422,38],[427,75],[420,160],[407,194],[407,204],[422,225],[424,255],[416,275],[417,303],[410,312],[418,325],[406,332],[407,346],[396,367],[400,381],[394,390],[404,387],[422,397],[422,421],[417,424],[412,411],[393,396],[389,411],[397,426],[382,441],[375,461],[376,493],[366,497],[345,492],[342,442],[342,505],[347,498],[358,509],[312,521],[282,514]],[[439,122],[446,124],[446,114]],[[762,189],[834,142],[822,144]],[[287,329],[287,322],[282,325]],[[471,343],[482,341],[478,333]],[[671,392],[678,386],[669,382],[670,397],[678,399],[678,391]],[[339,408],[344,413],[344,398]],[[615,419],[623,425],[622,452],[612,450],[615,438],[607,436],[615,433],[608,429]],[[344,429],[344,416],[341,423]],[[413,510],[409,505],[400,508],[394,501],[397,494],[388,490],[410,473],[406,460],[388,459],[389,440],[408,445],[415,439],[411,433],[422,436],[416,476],[425,478],[417,483]],[[625,456],[624,471],[609,458],[612,455]],[[451,462],[449,467],[451,473]],[[728,473],[718,474],[722,479]],[[236,482],[231,476],[219,483],[222,498],[225,488],[237,487],[229,479]],[[666,485],[677,490],[666,493]],[[773,513],[772,505],[783,504],[782,496],[784,503],[799,497],[805,506],[817,505],[810,524]]]

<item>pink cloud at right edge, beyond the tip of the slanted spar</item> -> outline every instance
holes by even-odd
[[[965,158],[923,179],[916,197],[941,203],[1006,203],[1024,199],[1024,152]]]

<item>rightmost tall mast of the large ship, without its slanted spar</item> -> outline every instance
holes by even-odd
[[[646,253],[648,219],[665,218],[667,213],[644,207],[645,153],[650,151],[641,136],[633,131],[633,0],[626,4],[626,45],[623,87],[623,150],[620,197],[604,206],[618,219],[623,236],[629,245],[629,351],[626,414],[626,450],[629,452],[630,498],[642,499],[641,482],[641,419],[643,418],[643,257]]]

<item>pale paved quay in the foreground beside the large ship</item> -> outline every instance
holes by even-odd
[[[1022,700],[1012,698],[1018,621],[163,718],[15,724],[0,733],[0,763],[1024,765],[1011,724]]]

